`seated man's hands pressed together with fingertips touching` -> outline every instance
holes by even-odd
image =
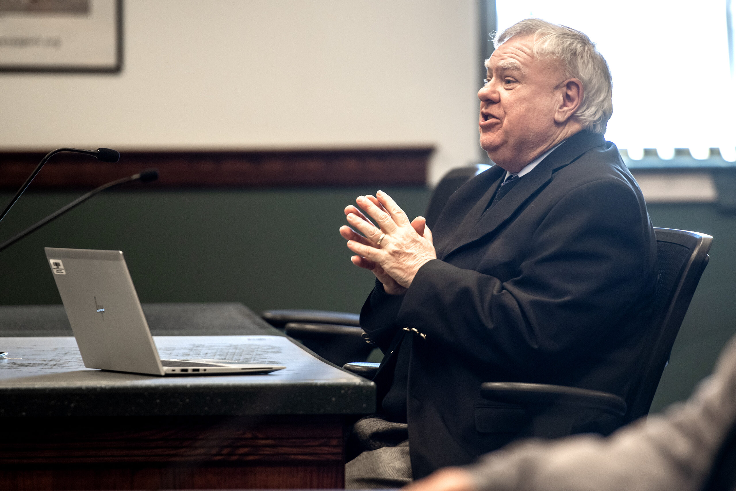
[[[359,196],[355,202],[378,227],[359,208],[345,207],[350,227],[340,227],[340,235],[356,254],[350,260],[372,271],[386,293],[405,293],[420,267],[437,258],[424,217],[409,222],[406,213],[383,191],[375,197]]]

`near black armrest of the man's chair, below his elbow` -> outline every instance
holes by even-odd
[[[578,387],[521,382],[486,382],[481,384],[481,396],[525,407],[559,404],[576,406],[580,409],[597,409],[612,416],[626,414],[626,401],[618,395]]]

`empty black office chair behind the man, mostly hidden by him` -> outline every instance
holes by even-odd
[[[432,191],[427,206],[428,227],[434,227],[439,213],[460,186],[490,166],[477,163],[473,166],[459,167],[447,172]],[[275,328],[284,332],[302,345],[317,353],[322,358],[342,367],[348,361],[365,361],[374,349],[374,345],[367,341],[367,336],[360,328],[358,314],[333,311],[316,311],[304,309],[280,309],[264,311],[261,317]],[[365,367],[355,368],[363,370]]]

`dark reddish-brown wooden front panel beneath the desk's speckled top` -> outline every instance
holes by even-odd
[[[0,490],[344,487],[339,416],[7,418]]]

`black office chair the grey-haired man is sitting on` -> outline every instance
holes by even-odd
[[[486,382],[481,385],[481,395],[488,400],[521,406],[531,420],[531,434],[536,437],[569,435],[583,414],[590,417],[591,411],[609,416],[614,422],[610,431],[648,414],[682,319],[708,264],[713,239],[685,230],[655,228],[654,231],[659,262],[655,314],[648,322],[646,349],[640,355],[642,369],[636,374],[628,404],[606,392],[547,384]]]

